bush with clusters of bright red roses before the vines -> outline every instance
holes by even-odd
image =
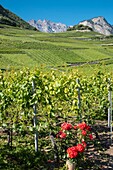
[[[93,140],[91,127],[85,122],[74,126],[67,122],[62,123],[56,137],[60,139],[61,151],[65,150],[63,157],[76,163],[83,160],[87,143]]]

